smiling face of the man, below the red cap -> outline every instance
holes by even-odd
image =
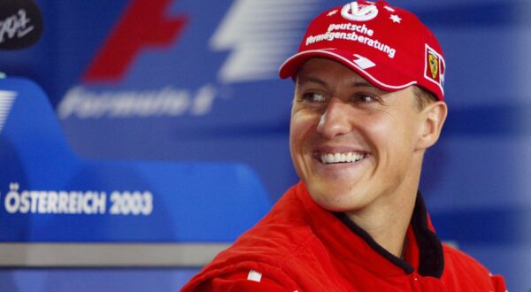
[[[289,144],[313,200],[331,211],[392,204],[416,189],[422,117],[412,88],[386,92],[326,58],[296,77]]]

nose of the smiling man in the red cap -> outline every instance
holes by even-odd
[[[350,124],[350,104],[333,97],[327,104],[327,110],[320,117],[317,132],[327,139],[337,135],[347,134],[352,129]]]

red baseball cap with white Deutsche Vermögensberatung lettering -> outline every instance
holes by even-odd
[[[315,57],[347,65],[383,90],[416,84],[444,100],[441,45],[415,15],[385,1],[354,1],[321,13],[297,53],[281,65],[281,78],[295,77]]]

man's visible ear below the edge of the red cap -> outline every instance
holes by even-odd
[[[447,114],[448,107],[441,101],[428,104],[420,112],[422,125],[419,127],[420,135],[417,141],[417,150],[426,150],[439,140]]]

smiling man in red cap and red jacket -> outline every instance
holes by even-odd
[[[280,70],[295,81],[301,182],[183,291],[505,291],[439,241],[418,191],[447,114],[444,71],[435,36],[385,2],[313,19]]]

